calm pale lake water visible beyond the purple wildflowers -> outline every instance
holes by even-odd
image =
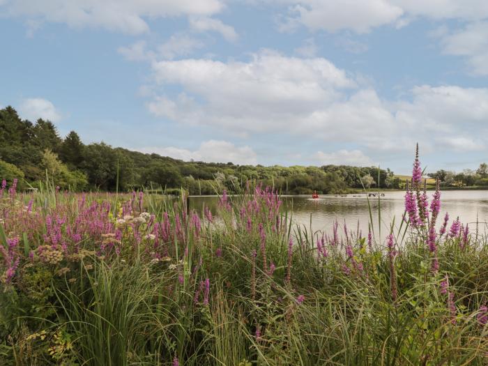
[[[427,192],[429,198],[433,192]],[[399,224],[404,213],[404,192],[384,192],[380,203],[378,197],[369,197],[372,206],[373,222],[378,227],[378,206],[381,205],[381,230],[388,230],[390,222],[395,217]],[[310,226],[314,230],[326,229],[330,231],[333,222],[337,219],[350,229],[356,230],[359,222],[363,232],[367,231],[369,210],[365,194],[357,195],[321,195],[319,199],[310,196],[284,196],[284,207],[293,213],[293,220],[298,224]],[[190,197],[190,207],[201,211],[203,205],[209,206],[215,213],[218,197]],[[475,222],[482,222],[480,230],[484,231],[488,222],[488,190],[450,190],[441,192],[441,219],[448,212],[451,220],[459,216],[462,222],[470,222],[475,229]],[[385,231],[386,232],[386,231]]]

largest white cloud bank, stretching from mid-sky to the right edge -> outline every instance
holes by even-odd
[[[457,150],[476,144],[488,120],[488,89],[415,86],[406,100],[382,100],[326,59],[254,54],[248,62],[184,59],[153,63],[155,82],[176,84],[178,96],[147,103],[155,116],[248,136],[277,132],[347,142],[371,151],[424,146]],[[486,129],[486,128],[485,128]],[[455,139],[457,138],[457,139]],[[464,147],[463,147],[464,146]]]

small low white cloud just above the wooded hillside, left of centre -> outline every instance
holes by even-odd
[[[197,160],[206,162],[234,162],[241,165],[256,165],[257,155],[249,146],[235,146],[231,142],[209,140],[202,142],[196,151],[185,148],[168,147],[144,147],[139,148],[143,153],[158,153],[162,156],[181,160]]]

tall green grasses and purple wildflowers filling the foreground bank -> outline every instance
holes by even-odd
[[[388,232],[293,225],[251,183],[222,192],[218,220],[184,192],[16,184],[0,187],[1,365],[488,363],[488,236],[438,217],[418,152]]]

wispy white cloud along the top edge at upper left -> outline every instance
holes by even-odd
[[[149,30],[144,18],[208,16],[219,13],[223,7],[222,0],[22,0],[7,1],[0,10],[3,15],[24,17],[28,21],[64,23],[73,28],[96,26],[140,34]]]

